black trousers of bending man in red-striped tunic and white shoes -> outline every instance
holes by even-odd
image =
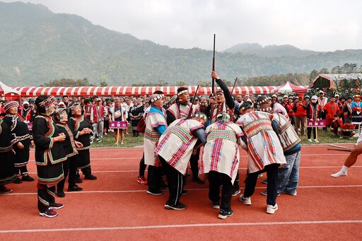
[[[257,176],[259,173],[267,172],[267,204],[274,206],[276,204],[276,195],[278,191],[278,167],[279,164],[274,163],[264,167],[264,170],[254,173],[247,173],[245,179],[244,196],[252,196],[255,192],[255,185],[257,184]]]

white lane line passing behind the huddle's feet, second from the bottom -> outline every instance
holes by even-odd
[[[265,186],[266,187],[266,186]],[[265,189],[265,187],[255,187],[255,189]],[[351,188],[351,187],[362,187],[362,185],[327,185],[327,186],[301,186],[300,188]],[[243,187],[240,187],[240,189],[244,189]],[[193,189],[187,189],[188,191],[202,191],[202,190],[209,190],[209,188],[193,188]],[[65,192],[67,194],[112,194],[112,193],[134,193],[134,192],[145,192],[146,189],[142,190],[115,190],[115,191],[81,191],[81,192]],[[163,190],[163,192],[168,192],[168,190]],[[10,193],[10,194],[0,194],[0,196],[16,196],[16,195],[36,195],[36,192],[19,192],[19,193]]]

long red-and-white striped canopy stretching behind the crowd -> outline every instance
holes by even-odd
[[[277,86],[235,86],[233,95],[270,94]],[[151,95],[162,90],[165,95],[177,94],[178,86],[81,86],[81,87],[16,87],[21,97],[37,97],[38,95],[54,96],[140,96]],[[197,86],[188,86],[190,95],[194,95]],[[232,88],[229,87],[231,91]],[[210,95],[211,87],[199,87],[198,95]]]

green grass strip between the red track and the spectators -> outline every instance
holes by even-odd
[[[306,132],[306,131],[305,131]],[[91,145],[92,147],[134,147],[134,146],[142,146],[144,144],[144,134],[141,134],[137,137],[132,136],[132,129],[129,127],[128,129],[128,135],[124,134],[124,144],[121,145],[120,141],[118,146],[115,144],[115,133],[110,132],[107,134],[107,136],[103,137],[102,142],[98,143],[97,141],[94,141]],[[313,141],[310,143],[307,139],[307,136],[300,136],[300,139],[302,139],[302,144],[308,144],[308,145],[315,145],[315,142]],[[313,139],[313,133],[312,133],[312,139]],[[317,139],[320,141],[320,143],[355,143],[357,140],[357,137],[355,136],[353,140],[350,140],[349,138],[339,139],[339,136],[334,136],[332,132],[325,132],[322,131],[322,129],[318,129],[317,131]]]

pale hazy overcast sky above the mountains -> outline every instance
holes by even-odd
[[[3,0],[4,1],[4,0]],[[6,2],[11,2],[5,0]],[[244,42],[362,49],[361,0],[28,0],[160,45],[222,51]]]

